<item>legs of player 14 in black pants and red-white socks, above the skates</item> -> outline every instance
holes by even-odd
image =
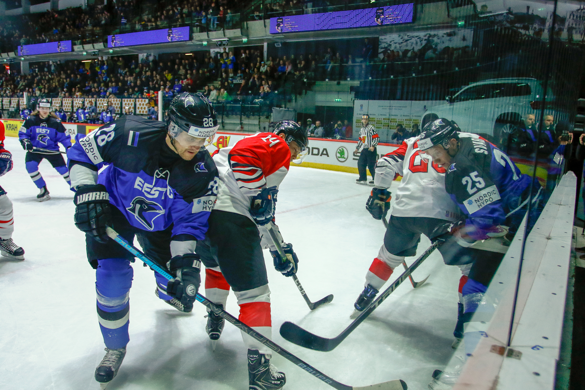
[[[255,223],[236,213],[213,210],[205,240],[195,250],[205,264],[205,296],[225,308],[232,288],[240,306],[239,320],[271,339],[270,289]],[[242,332],[247,348],[271,353]]]

